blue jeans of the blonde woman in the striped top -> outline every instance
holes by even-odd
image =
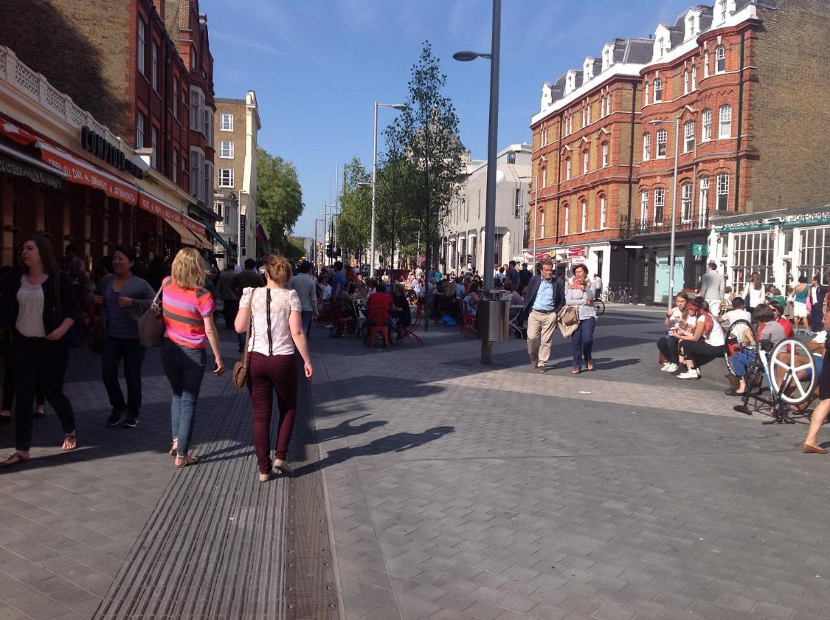
[[[173,388],[170,426],[173,441],[178,439],[178,456],[187,456],[193,437],[193,418],[196,417],[196,402],[205,373],[205,359],[205,349],[188,349],[167,338],[161,345],[161,365]]]

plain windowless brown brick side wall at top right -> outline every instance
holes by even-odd
[[[758,82],[746,100],[759,158],[749,161],[747,211],[830,203],[830,4],[778,0],[759,17]]]

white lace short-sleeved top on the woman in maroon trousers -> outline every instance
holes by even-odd
[[[294,353],[294,339],[288,326],[291,312],[301,312],[300,297],[291,289],[269,289],[264,286],[242,290],[240,308],[251,310],[253,330],[248,341],[248,350],[268,355],[267,295],[271,293],[271,355]]]

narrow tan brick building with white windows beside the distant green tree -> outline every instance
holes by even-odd
[[[245,99],[217,98],[216,106],[213,208],[222,217],[217,232],[235,251],[238,245],[240,261],[256,259],[256,137],[262,129],[256,93],[248,90]]]

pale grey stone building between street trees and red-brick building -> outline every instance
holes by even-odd
[[[496,158],[496,242],[494,261],[521,261],[530,189],[530,144],[510,144]],[[445,272],[467,265],[484,273],[487,163],[467,154],[461,192],[443,222],[439,264]]]

